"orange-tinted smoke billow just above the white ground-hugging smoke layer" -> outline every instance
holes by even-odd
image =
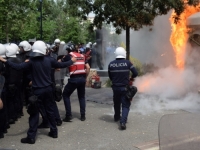
[[[179,98],[198,88],[195,70],[179,70],[173,66],[159,69],[155,73],[138,77],[135,85],[139,91],[164,98]]]

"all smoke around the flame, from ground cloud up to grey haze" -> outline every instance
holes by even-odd
[[[133,98],[131,111],[146,114],[162,110],[200,111],[200,48],[187,43],[184,70],[175,67],[175,53],[170,44],[171,13],[155,19],[153,27],[131,32],[131,55],[160,69],[137,77],[139,92]],[[125,36],[123,37],[125,41]]]

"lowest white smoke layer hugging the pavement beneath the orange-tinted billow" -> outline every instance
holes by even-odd
[[[160,96],[147,94],[137,94],[133,98],[131,112],[140,113],[143,115],[152,112],[162,112],[163,110],[185,110],[193,113],[200,112],[199,93],[188,93],[182,98],[169,99]]]

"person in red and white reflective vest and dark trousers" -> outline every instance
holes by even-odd
[[[85,84],[86,77],[90,72],[90,66],[85,60],[84,55],[78,53],[78,49],[76,49],[74,45],[70,45],[69,47],[69,55],[64,56],[61,61],[68,61],[71,57],[75,57],[77,61],[69,67],[70,78],[68,79],[68,83],[63,90],[63,100],[66,110],[66,116],[63,121],[70,122],[72,120],[70,96],[75,89],[77,89],[80,104],[80,120],[85,121]]]

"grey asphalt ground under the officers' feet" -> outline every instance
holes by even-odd
[[[38,129],[36,143],[22,144],[26,137],[28,114],[11,125],[8,133],[0,139],[0,150],[158,150],[158,125],[165,114],[187,113],[183,110],[160,110],[145,114],[137,112],[137,96],[132,101],[127,129],[121,131],[119,122],[113,120],[111,88],[86,88],[86,120],[80,121],[76,91],[71,96],[72,122],[58,127],[58,138],[48,137],[49,129]],[[63,101],[57,103],[62,118],[65,116]],[[41,118],[40,118],[41,121]]]

